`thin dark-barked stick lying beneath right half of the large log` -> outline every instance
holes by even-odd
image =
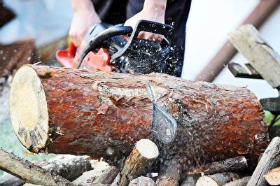
[[[243,169],[248,166],[247,159],[244,156],[228,158],[220,162],[212,162],[209,164],[204,164],[202,166],[197,166],[193,169],[188,169],[184,176],[197,174],[200,175],[202,173],[206,175],[211,175],[215,173],[223,173],[229,171],[236,171],[238,169]]]

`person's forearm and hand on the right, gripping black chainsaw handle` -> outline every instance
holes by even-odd
[[[153,22],[165,23],[165,9],[167,0],[145,0],[143,9],[125,22],[125,26],[135,27],[139,20],[149,20]],[[141,31],[139,37],[161,41],[162,36]]]

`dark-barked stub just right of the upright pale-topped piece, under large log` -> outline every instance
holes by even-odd
[[[156,184],[166,186],[179,185],[184,163],[185,159],[183,157],[167,157],[160,167]]]

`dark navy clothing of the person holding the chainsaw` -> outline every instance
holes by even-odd
[[[145,0],[92,0],[97,14],[102,22],[110,24],[124,23],[133,15],[139,13]],[[186,22],[190,11],[191,0],[167,0],[165,24],[175,29],[175,44],[179,56],[174,76],[181,76],[185,50]]]

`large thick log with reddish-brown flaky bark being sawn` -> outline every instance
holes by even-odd
[[[177,122],[173,143],[151,134],[148,82],[158,106]],[[238,155],[255,165],[268,144],[265,113],[246,87],[160,73],[133,76],[25,65],[10,89],[10,117],[31,152],[104,157],[111,164],[130,155],[142,138],[194,166]]]

